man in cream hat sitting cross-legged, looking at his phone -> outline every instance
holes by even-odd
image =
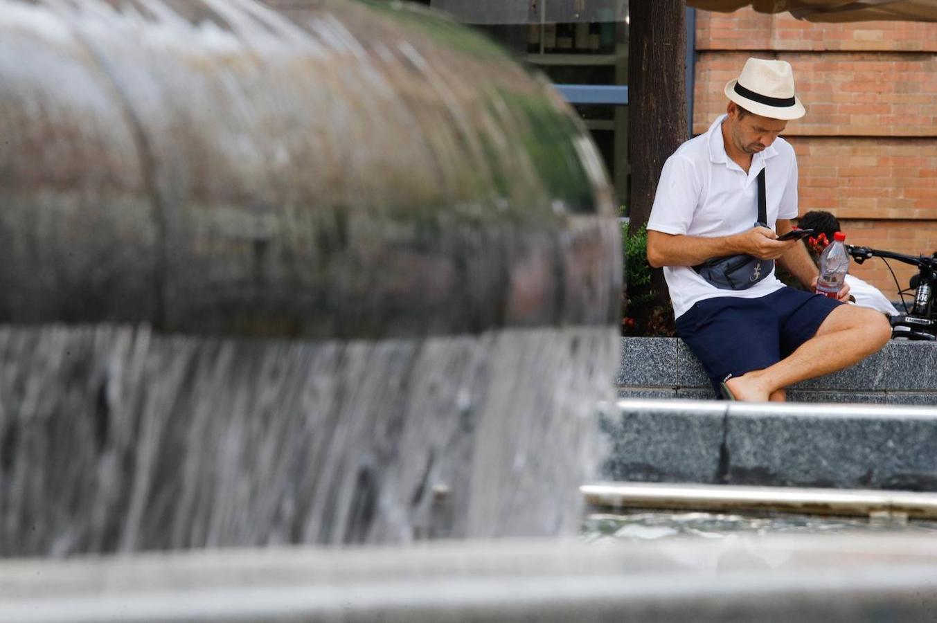
[[[647,260],[663,267],[677,334],[717,394],[783,401],[789,385],[882,349],[891,327],[877,311],[842,304],[848,286],[839,300],[812,293],[807,249],[777,240],[797,216],[796,157],[778,136],[804,115],[790,64],[750,58],[725,95],[726,114],[663,166]],[[774,260],[809,291],[784,286]]]

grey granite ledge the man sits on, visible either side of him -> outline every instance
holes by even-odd
[[[677,337],[621,338],[616,384],[621,397],[712,396],[703,366]],[[789,399],[937,404],[937,344],[891,341],[849,368],[797,383]]]

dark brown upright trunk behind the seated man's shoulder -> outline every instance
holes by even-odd
[[[684,0],[632,0],[629,10],[629,208],[633,231],[647,223],[664,160],[688,138],[684,88],[687,34]],[[628,284],[632,300],[647,289]],[[639,326],[647,324],[654,307],[669,306],[661,270],[654,272],[650,289],[657,292],[653,302],[627,312],[637,313]]]

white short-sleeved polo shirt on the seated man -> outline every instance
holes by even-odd
[[[749,172],[725,153],[722,121],[706,134],[686,141],[667,158],[657,185],[647,229],[663,233],[714,238],[751,230],[758,220],[758,173],[765,169],[766,215],[774,229],[779,218],[797,215],[797,161],[794,148],[783,139],[751,156]],[[754,299],[781,289],[774,275],[750,289],[719,289],[689,266],[664,266],[676,318],[693,304],[717,296]]]

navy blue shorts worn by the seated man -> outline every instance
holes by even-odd
[[[713,389],[778,363],[817,333],[841,303],[781,288],[758,299],[720,296],[694,304],[677,319],[677,334],[706,368]]]

